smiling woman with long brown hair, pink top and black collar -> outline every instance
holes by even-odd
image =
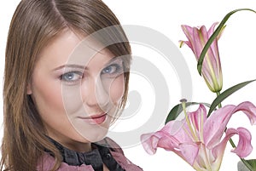
[[[9,27],[1,169],[142,170],[105,138],[131,48],[101,0],[22,0]]]

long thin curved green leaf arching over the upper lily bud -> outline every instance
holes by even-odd
[[[203,60],[204,60],[204,58],[205,58],[205,55],[207,54],[208,48],[210,48],[210,46],[211,46],[211,44],[212,44],[212,42],[213,42],[213,40],[214,40],[216,37],[218,37],[219,32],[222,30],[222,28],[223,28],[225,22],[226,22],[227,20],[229,20],[230,16],[231,16],[232,14],[234,14],[234,13],[236,13],[236,12],[238,12],[238,11],[242,11],[242,10],[248,10],[248,11],[252,11],[253,13],[256,13],[256,11],[254,11],[253,9],[236,9],[236,10],[233,10],[233,11],[231,11],[230,13],[228,13],[228,14],[226,14],[226,15],[224,16],[224,19],[219,23],[217,29],[212,33],[212,36],[208,39],[208,41],[207,41],[205,47],[204,47],[204,48],[202,49],[202,51],[201,51],[200,58],[199,58],[199,60],[198,60],[198,62],[197,62],[197,71],[199,72],[200,75],[201,75],[201,68],[202,68]]]

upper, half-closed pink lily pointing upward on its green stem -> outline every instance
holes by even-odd
[[[183,45],[183,43],[187,44],[195,54],[195,58],[197,61],[199,60],[201,51],[206,45],[209,37],[212,36],[214,27],[216,25],[217,23],[214,23],[209,31],[207,31],[206,26],[201,26],[200,28],[185,25],[182,26],[183,32],[189,40],[181,41],[181,45]],[[220,36],[218,36],[212,42],[211,47],[208,49],[205,59],[203,61],[201,71],[202,77],[204,77],[208,88],[210,88],[210,90],[214,93],[219,92],[222,89],[223,85],[221,64],[218,54],[219,37]]]

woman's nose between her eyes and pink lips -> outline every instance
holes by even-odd
[[[108,105],[108,88],[105,88],[102,84],[102,80],[97,77],[90,78],[87,80],[87,83],[82,84],[81,94],[84,96],[84,105],[101,108]]]

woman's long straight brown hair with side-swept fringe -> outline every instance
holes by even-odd
[[[22,0],[15,10],[9,27],[5,54],[3,85],[3,144],[1,170],[36,170],[38,159],[48,149],[55,156],[55,167],[61,164],[59,151],[45,137],[44,124],[26,94],[37,62],[38,53],[64,29],[89,35],[108,26],[119,26],[119,20],[101,0]],[[109,37],[125,37],[121,27]],[[125,37],[126,40],[126,37]],[[128,41],[108,46],[114,55],[128,54]],[[125,72],[125,106],[129,70]]]

